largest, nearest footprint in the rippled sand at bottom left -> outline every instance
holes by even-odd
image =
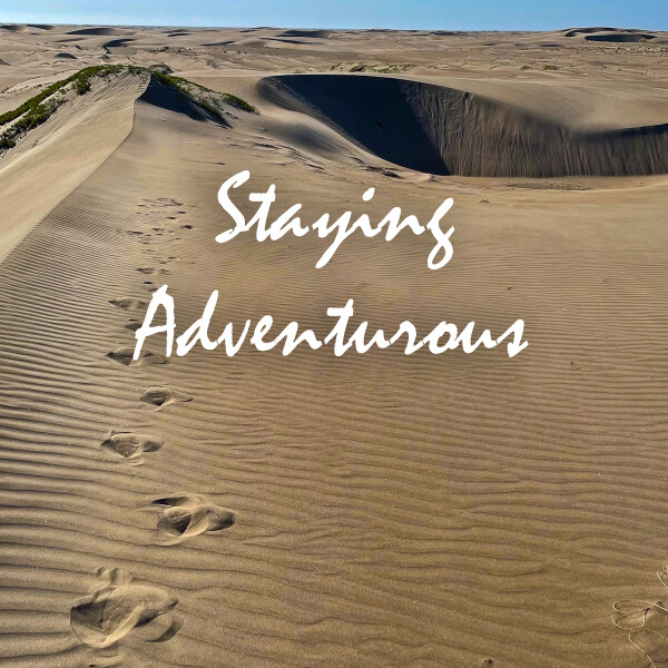
[[[81,642],[116,648],[135,629],[147,642],[164,642],[178,632],[183,622],[174,611],[178,603],[174,595],[132,583],[132,576],[122,569],[100,569],[98,576],[102,586],[70,609],[70,625]]]

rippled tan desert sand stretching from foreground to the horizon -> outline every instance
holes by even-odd
[[[0,31],[0,112],[117,62],[258,111],[226,127],[126,71],[0,157],[2,666],[666,660],[628,637],[668,561],[665,33]],[[275,183],[305,220],[451,196],[454,257],[218,245],[242,169],[236,202]],[[522,317],[530,345],[166,360],[156,336],[131,362],[165,283],[179,333],[219,289],[212,332],[271,313],[322,335],[353,297],[389,331]]]

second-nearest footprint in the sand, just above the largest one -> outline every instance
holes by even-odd
[[[169,544],[200,533],[223,531],[236,522],[232,510],[216,505],[210,499],[199,494],[175,494],[156,499],[153,505],[161,508],[158,530],[166,534]]]

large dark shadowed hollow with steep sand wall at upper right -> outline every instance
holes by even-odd
[[[668,171],[668,124],[572,128],[462,90],[390,77],[284,75],[262,79],[258,88],[266,99],[418,171],[523,177]]]

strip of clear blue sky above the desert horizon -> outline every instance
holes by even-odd
[[[668,0],[0,0],[0,22],[552,30],[668,30]]]

